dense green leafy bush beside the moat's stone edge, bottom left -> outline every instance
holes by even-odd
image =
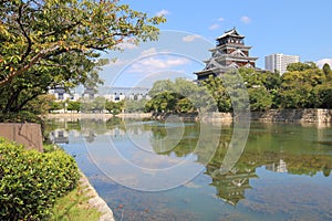
[[[58,149],[27,150],[0,138],[0,220],[42,220],[79,180],[75,160]]]

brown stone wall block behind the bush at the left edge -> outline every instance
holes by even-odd
[[[0,124],[0,137],[21,144],[27,149],[43,151],[39,124]]]

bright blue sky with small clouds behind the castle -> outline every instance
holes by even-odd
[[[209,59],[208,49],[214,46],[215,39],[234,27],[246,35],[246,44],[252,46],[250,55],[259,57],[257,66],[261,69],[264,56],[272,53],[300,55],[301,62],[332,59],[331,0],[124,0],[121,3],[149,15],[164,14],[167,22],[159,25],[163,31],[159,42],[124,44],[124,53],[107,55],[117,61],[102,72],[105,85],[144,86],[142,80],[168,75],[168,78],[170,75],[195,78],[193,72],[204,67],[201,61]],[[190,46],[186,48],[186,43]]]

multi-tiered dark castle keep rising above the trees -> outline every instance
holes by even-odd
[[[230,69],[256,67],[258,57],[249,56],[251,46],[245,45],[245,36],[234,28],[217,38],[216,48],[209,50],[211,57],[204,61],[206,66],[203,71],[195,72],[198,81],[206,80],[209,75],[218,76]]]

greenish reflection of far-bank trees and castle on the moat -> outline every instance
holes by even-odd
[[[91,143],[97,135],[103,134],[125,138],[127,134],[139,137],[141,134],[152,133],[149,143],[154,152],[176,157],[196,155],[196,162],[204,165],[206,167],[205,175],[211,178],[209,185],[215,187],[216,197],[231,206],[236,206],[246,198],[246,191],[251,189],[250,180],[259,178],[257,168],[264,167],[274,172],[305,176],[322,172],[325,177],[329,177],[332,170],[331,140],[325,140],[326,136],[320,135],[325,130],[320,130],[314,126],[299,129],[299,125],[292,124],[286,126],[284,124],[252,123],[247,146],[241,157],[230,171],[220,173],[220,167],[232,136],[231,125],[187,123],[179,130],[176,125],[165,127],[164,123],[160,122],[126,119],[124,123],[116,117],[108,120],[55,120],[48,125],[49,130],[61,128],[80,131]],[[212,130],[214,127],[221,127],[221,134],[205,135],[200,140],[204,145],[197,148],[201,127],[209,127]],[[173,137],[176,137],[179,131],[183,133],[180,140],[175,141]],[[324,140],[321,140],[322,137]],[[214,148],[216,140],[219,143],[217,149]],[[210,158],[210,156],[212,157]]]

